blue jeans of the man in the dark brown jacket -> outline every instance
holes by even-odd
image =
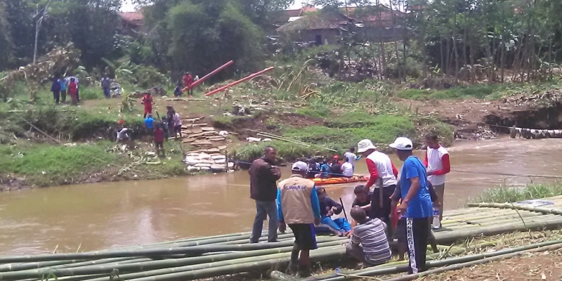
[[[259,201],[256,200],[256,218],[254,226],[251,228],[250,243],[257,243],[261,237],[263,229],[263,221],[269,216],[268,226],[268,242],[277,241],[277,228],[279,228],[279,219],[277,218],[277,203],[275,201]]]

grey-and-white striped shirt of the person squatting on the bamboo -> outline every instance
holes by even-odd
[[[391,247],[385,233],[386,224],[378,218],[371,219],[353,228],[352,244],[362,244],[365,260],[372,264],[391,259]]]

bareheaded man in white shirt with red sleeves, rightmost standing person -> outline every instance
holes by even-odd
[[[439,138],[435,133],[425,137],[427,150],[424,166],[427,168],[427,179],[433,185],[438,196],[439,220],[443,219],[443,196],[445,195],[445,175],[451,171],[449,152],[439,145]]]

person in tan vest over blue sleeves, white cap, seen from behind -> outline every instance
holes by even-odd
[[[305,162],[294,163],[292,176],[281,181],[277,189],[279,230],[285,233],[285,223],[287,223],[293,230],[295,238],[289,268],[296,273],[298,264],[301,277],[311,275],[311,262],[308,257],[310,250],[318,249],[314,226],[320,223],[321,218],[320,202],[314,181],[304,178],[307,171],[308,165]]]

